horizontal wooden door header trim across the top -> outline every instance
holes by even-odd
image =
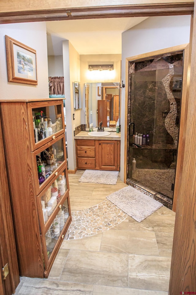
[[[15,2],[13,4],[13,2]],[[67,1],[66,6],[63,1],[58,5],[54,1],[40,3],[34,0],[13,1],[11,4],[2,4],[0,13],[0,24],[18,23],[18,22],[41,22],[56,20],[74,20],[90,18],[125,18],[125,17],[149,17],[149,16],[166,16],[166,15],[187,15],[194,11],[194,2],[170,1],[168,3],[152,3],[152,1],[137,1],[133,5],[124,5],[126,1],[112,1],[110,6],[100,6],[100,2],[95,1],[94,6],[86,6],[84,3],[78,3],[79,7],[73,7],[72,1]],[[39,2],[39,3],[38,3]],[[49,3],[48,3],[49,2]],[[79,1],[78,1],[79,2]],[[97,3],[96,3],[97,2]],[[150,3],[151,2],[151,3]],[[50,8],[48,8],[48,6]]]

